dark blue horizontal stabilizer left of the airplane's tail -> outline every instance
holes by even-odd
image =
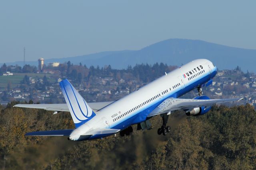
[[[28,132],[25,136],[69,136],[74,129]]]

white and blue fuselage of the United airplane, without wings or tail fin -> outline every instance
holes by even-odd
[[[209,76],[216,69],[207,59],[196,59],[182,65],[95,112],[95,117],[75,129],[70,136],[76,138],[74,136],[80,136],[96,128],[124,129],[139,123],[140,120],[146,120],[144,115],[149,114],[161,101],[170,96],[179,97],[183,93],[187,93],[188,91],[183,92],[186,87],[189,87],[189,90],[198,87],[200,84],[195,83]],[[139,116],[136,117],[136,115]]]

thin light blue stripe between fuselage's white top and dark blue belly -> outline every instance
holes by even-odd
[[[214,72],[214,71],[216,71],[216,70],[217,70],[217,69],[214,69],[214,70],[212,70],[212,72]],[[186,87],[188,87],[188,86],[191,85],[192,83],[198,81],[199,79],[203,79],[204,77],[207,77],[207,76],[209,76],[209,75],[210,75],[210,74],[206,74],[206,75],[203,76],[203,77],[200,77],[200,76],[199,76],[197,79],[194,79],[194,81],[191,81],[191,83],[187,84]],[[184,84],[184,86],[185,86],[185,84]],[[184,87],[184,88],[186,88],[186,87]],[[124,122],[124,121],[126,121],[127,119],[131,118],[132,116],[134,116],[134,115],[136,115],[136,114],[138,114],[138,113],[140,113],[140,112],[142,112],[142,111],[144,111],[144,110],[150,108],[151,106],[155,105],[156,103],[162,102],[162,101],[168,99],[171,95],[173,95],[173,94],[176,93],[177,91],[180,91],[181,89],[184,89],[184,88],[179,87],[178,89],[172,91],[172,93],[170,93],[169,95],[167,95],[165,98],[160,99],[160,100],[158,100],[158,101],[152,103],[152,104],[149,105],[148,107],[144,107],[143,109],[140,109],[140,110],[134,112],[134,113],[131,114],[130,116],[125,117],[125,119],[121,119],[120,121],[117,121],[116,123],[112,124],[112,125],[110,126],[110,128],[115,127],[116,125],[121,124],[122,122]]]

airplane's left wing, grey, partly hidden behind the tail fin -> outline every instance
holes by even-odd
[[[98,111],[107,105],[110,105],[114,101],[107,102],[96,102],[96,103],[88,103],[88,105]],[[66,103],[63,104],[18,104],[14,105],[14,107],[26,107],[26,108],[34,108],[34,109],[44,109],[46,111],[63,111],[69,112],[68,105]]]

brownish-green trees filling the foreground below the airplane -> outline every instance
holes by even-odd
[[[69,113],[52,115],[14,104],[0,113],[2,169],[256,169],[256,112],[250,105],[214,106],[200,117],[175,113],[167,136],[157,135],[161,119],[154,117],[152,130],[71,142],[65,137],[24,136],[73,128]]]

